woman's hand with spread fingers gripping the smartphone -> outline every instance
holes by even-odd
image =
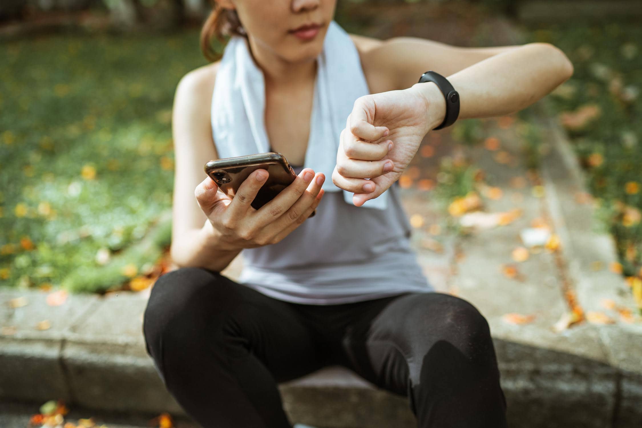
[[[304,178],[306,173],[312,176],[311,179]],[[263,175],[261,180],[257,180],[259,175]],[[252,171],[234,198],[219,192],[218,185],[209,176],[196,186],[196,201],[225,248],[233,250],[278,243],[299,227],[323,198],[321,185],[325,176],[323,173],[315,175],[313,169],[305,168],[273,200],[254,209],[250,204],[267,177],[265,169]],[[320,183],[317,183],[318,179]]]

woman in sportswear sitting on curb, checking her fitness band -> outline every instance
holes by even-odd
[[[336,0],[215,2],[202,32],[205,55],[214,59],[211,37],[229,34],[251,58],[245,65],[260,70],[265,84],[265,129],[256,128],[257,119],[252,132],[265,132],[270,151],[285,155],[298,175],[259,210],[250,202],[265,169],[248,176],[231,200],[209,177],[202,180],[204,163],[244,131],[215,118],[238,107],[244,114],[229,119],[249,124],[245,112],[255,106],[233,92],[229,105],[216,104],[217,94],[243,82],[223,72],[236,64],[226,56],[184,76],[173,110],[171,255],[180,268],[153,286],[143,326],[170,393],[204,427],[286,428],[277,384],[340,364],[408,397],[419,427],[505,427],[489,325],[474,305],[435,292],[422,276],[394,183],[446,117],[437,85],[416,83],[424,71],[447,76],[460,94],[460,119],[490,117],[525,108],[567,80],[568,58],[550,44],[460,48],[350,35],[333,47],[354,44],[361,65],[352,69],[354,84],[367,84],[368,93],[343,116],[336,150],[315,139],[328,123],[311,127],[332,114],[317,104],[327,94],[315,79],[330,70],[320,62],[332,55],[324,38],[342,34],[333,23]],[[294,31],[303,24],[316,30]],[[231,52],[226,47],[225,55]],[[306,140],[336,155],[331,184],[304,167],[314,160]],[[322,186],[354,193],[352,204]],[[363,207],[383,196],[380,209]],[[236,282],[220,271],[241,251]]]

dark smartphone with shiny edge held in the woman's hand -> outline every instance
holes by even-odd
[[[234,198],[241,183],[252,174],[252,171],[256,171],[256,169],[268,171],[268,179],[250,204],[254,209],[259,209],[273,200],[297,178],[297,174],[288,160],[281,153],[274,151],[210,160],[205,164],[204,169],[205,174],[209,175],[219,189],[230,198]],[[315,214],[317,214],[316,209],[309,217],[313,217]]]

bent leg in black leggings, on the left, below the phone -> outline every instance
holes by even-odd
[[[290,428],[277,382],[324,359],[286,302],[202,268],[159,277],[143,332],[166,388],[205,428]]]

